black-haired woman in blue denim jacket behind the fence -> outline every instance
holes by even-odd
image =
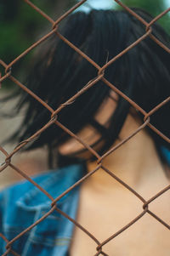
[[[152,19],[141,9],[134,11],[147,22]],[[89,14],[71,14],[62,34],[103,66],[141,37],[144,29],[139,20],[124,11],[93,10]],[[169,37],[161,26],[154,24],[152,33],[169,46]],[[56,36],[42,48],[37,59],[27,87],[54,109],[77,94],[98,74],[93,65]],[[146,37],[109,65],[104,76],[149,112],[170,94],[169,70],[167,52]],[[21,93],[17,111],[23,107],[26,107],[26,116],[12,138],[18,141],[29,138],[49,120],[48,111],[37,100]],[[150,117],[150,123],[167,137],[170,135],[168,117],[169,103]],[[143,116],[127,100],[99,81],[66,105],[59,112],[57,121],[102,156],[139,128]],[[59,126],[46,129],[37,140],[27,145],[26,150],[44,145],[48,145],[50,166],[54,168],[57,158],[57,165],[61,168],[38,175],[34,180],[54,198],[88,172],[100,168],[63,196],[57,202],[57,211],[12,243],[11,249],[23,256],[94,255],[99,242],[105,241],[142,213],[144,203],[111,175],[118,176],[146,200],[169,184],[164,172],[168,161],[161,148],[168,151],[170,146],[149,128],[142,129],[119,149],[104,157],[102,166],[98,165],[96,156]],[[150,205],[150,209],[160,218],[163,216],[165,222],[170,211],[168,192],[166,195],[159,203]],[[1,196],[1,230],[8,241],[42,218],[51,208],[48,197],[29,182],[14,185],[3,191]],[[98,242],[65,219],[63,212],[76,219]],[[131,228],[106,243],[102,252],[105,252],[104,255],[167,255],[169,238],[169,230],[145,214]],[[97,249],[99,251],[100,247]],[[3,239],[0,252],[5,252]]]

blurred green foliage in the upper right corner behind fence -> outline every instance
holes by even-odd
[[[165,9],[167,9],[166,0],[122,0],[122,3],[126,4],[128,7],[138,7],[146,10],[153,17],[161,14]],[[122,9],[119,5],[116,5],[116,9]],[[161,17],[157,22],[170,34],[170,14],[167,13]]]

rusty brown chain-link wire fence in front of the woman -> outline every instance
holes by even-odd
[[[125,94],[122,93],[122,91],[120,91],[118,88],[116,88],[114,86],[114,84],[112,84],[111,82],[109,82],[106,78],[105,78],[105,69],[107,69],[107,67],[109,65],[111,65],[114,61],[116,61],[118,58],[120,58],[123,54],[126,54],[127,51],[129,51],[131,48],[133,48],[134,46],[136,46],[137,44],[139,44],[142,40],[144,40],[144,38],[146,37],[150,37],[153,41],[155,41],[161,48],[164,48],[165,51],[167,51],[167,54],[170,53],[170,49],[167,48],[166,45],[164,45],[163,43],[161,43],[161,41],[159,41],[153,34],[152,34],[152,25],[156,22],[156,20],[161,19],[161,17],[165,14],[167,14],[167,12],[170,11],[170,8],[166,9],[165,11],[163,11],[161,14],[157,15],[153,20],[150,21],[150,23],[147,23],[145,20],[143,20],[142,17],[140,17],[138,14],[136,14],[135,12],[133,12],[132,9],[129,9],[127,6],[125,6],[121,1],[119,0],[114,0],[116,3],[118,3],[120,6],[122,6],[123,9],[126,9],[128,13],[132,14],[136,19],[138,19],[141,23],[144,24],[145,26],[145,33],[142,37],[139,37],[138,40],[136,40],[134,43],[132,43],[131,45],[129,45],[127,48],[125,48],[121,53],[117,54],[113,59],[111,59],[109,62],[107,62],[105,65],[103,66],[99,66],[96,62],[94,62],[94,60],[90,59],[88,57],[88,55],[84,54],[81,49],[77,48],[74,44],[72,44],[71,42],[69,42],[62,34],[59,33],[58,31],[58,26],[59,23],[61,22],[61,20],[64,20],[66,16],[68,16],[69,14],[71,14],[75,9],[77,9],[79,6],[81,6],[83,3],[87,2],[87,0],[82,0],[79,3],[77,3],[74,7],[72,7],[71,9],[69,9],[68,11],[65,12],[65,14],[61,15],[59,17],[58,20],[53,20],[51,17],[48,16],[48,14],[45,14],[41,9],[38,9],[36,5],[34,5],[33,3],[31,3],[31,1],[29,0],[24,0],[28,5],[31,6],[32,9],[35,9],[35,11],[37,11],[37,13],[41,14],[46,20],[48,20],[48,22],[51,23],[52,25],[52,30],[48,32],[48,34],[46,34],[44,37],[42,37],[41,39],[39,39],[36,43],[33,43],[31,45],[30,48],[27,48],[26,51],[24,51],[22,54],[20,54],[20,56],[18,56],[16,59],[14,59],[13,61],[11,61],[9,64],[6,64],[3,60],[0,60],[0,65],[3,66],[4,71],[5,71],[5,75],[3,77],[0,77],[0,84],[5,81],[6,79],[10,79],[12,82],[14,82],[17,86],[19,86],[20,88],[22,88],[23,90],[26,91],[27,94],[30,94],[33,98],[35,98],[37,101],[39,101],[46,109],[48,109],[49,113],[51,114],[51,118],[49,120],[48,123],[46,123],[40,130],[38,130],[35,134],[32,134],[30,138],[22,141],[19,145],[16,145],[14,148],[14,151],[8,153],[7,151],[5,151],[3,149],[3,147],[0,147],[0,151],[3,152],[3,155],[5,156],[5,162],[3,163],[3,165],[0,168],[0,172],[4,172],[5,168],[10,167],[13,168],[14,171],[16,171],[18,174],[20,174],[22,177],[24,177],[25,179],[27,179],[29,182],[31,182],[32,185],[35,185],[37,187],[38,190],[42,191],[42,193],[44,193],[46,196],[48,196],[48,198],[51,200],[51,209],[48,211],[48,213],[44,214],[42,216],[41,219],[38,219],[34,224],[30,225],[26,230],[23,230],[20,234],[18,234],[18,236],[15,236],[14,239],[12,239],[11,241],[8,241],[7,238],[5,236],[3,236],[3,234],[0,234],[0,236],[2,237],[2,239],[7,243],[6,245],[6,252],[3,253],[3,256],[8,255],[8,253],[12,253],[14,255],[19,255],[17,252],[14,252],[13,250],[13,243],[17,240],[20,239],[20,236],[23,236],[26,232],[28,232],[29,230],[31,230],[34,226],[38,225],[40,222],[42,222],[44,219],[46,219],[48,217],[49,214],[53,213],[54,211],[57,211],[58,213],[62,214],[63,216],[65,216],[65,218],[69,219],[72,223],[74,223],[75,225],[77,225],[77,227],[79,229],[81,229],[83,232],[85,232],[91,239],[94,240],[94,242],[96,243],[96,250],[97,253],[95,253],[95,255],[99,255],[99,254],[103,254],[103,255],[107,255],[102,247],[107,243],[110,242],[112,239],[114,239],[116,236],[118,236],[119,234],[121,234],[124,230],[127,230],[131,225],[133,225],[135,222],[137,222],[140,218],[142,218],[144,216],[145,213],[149,213],[153,218],[155,218],[157,221],[159,221],[161,223],[161,225],[164,225],[167,227],[167,229],[170,229],[170,225],[167,225],[166,222],[164,222],[160,217],[156,216],[155,213],[151,212],[149,210],[149,204],[150,202],[153,202],[158,196],[161,196],[163,193],[165,193],[167,190],[170,189],[170,185],[167,185],[167,187],[165,187],[163,190],[159,191],[155,196],[152,196],[149,200],[145,200],[143,198],[143,196],[139,195],[139,193],[137,191],[134,191],[132,187],[130,187],[129,185],[127,185],[125,182],[122,181],[122,179],[119,179],[118,177],[116,177],[115,174],[113,174],[113,172],[111,172],[111,170],[109,170],[108,168],[105,168],[105,166],[102,163],[102,160],[105,158],[105,156],[108,156],[109,154],[111,154],[113,151],[116,151],[117,148],[119,148],[120,146],[122,146],[124,143],[127,142],[128,139],[131,139],[135,134],[138,134],[139,131],[141,131],[143,128],[145,128],[146,126],[150,127],[150,129],[152,129],[156,134],[158,134],[159,136],[161,136],[161,138],[165,139],[168,143],[170,142],[170,139],[167,138],[166,135],[161,134],[161,132],[156,129],[153,125],[150,124],[150,116],[155,113],[156,111],[158,111],[162,105],[167,104],[167,102],[170,100],[170,96],[167,97],[166,100],[162,101],[159,105],[156,105],[155,108],[153,108],[151,111],[146,112],[144,111],[139,105],[137,105],[133,100],[131,100],[130,98],[128,98]],[[50,107],[50,105],[48,105],[45,101],[43,101],[42,99],[40,99],[36,94],[34,94],[29,88],[26,88],[26,86],[24,84],[22,84],[20,81],[18,81],[15,77],[12,76],[12,67],[13,65],[19,61],[21,58],[23,58],[26,54],[28,54],[33,48],[36,48],[39,44],[41,44],[43,41],[45,41],[48,37],[52,36],[53,34],[55,34],[57,37],[59,37],[61,40],[63,40],[65,43],[67,43],[71,48],[73,48],[78,54],[80,54],[82,56],[82,58],[88,60],[88,62],[91,63],[91,65],[94,65],[94,67],[98,70],[98,76],[94,77],[93,80],[89,81],[88,84],[83,87],[77,94],[75,94],[73,97],[71,97],[71,99],[67,100],[65,102],[65,104],[62,104],[59,106],[58,109],[54,110],[53,108]],[[119,94],[120,96],[122,96],[125,100],[127,100],[134,108],[136,108],[139,112],[141,112],[144,115],[144,123],[138,128],[136,129],[133,134],[130,134],[126,139],[123,139],[118,145],[114,146],[111,148],[111,150],[107,151],[103,156],[99,156],[99,154],[97,153],[97,151],[94,151],[94,149],[92,147],[90,147],[90,145],[88,145],[87,143],[85,143],[81,138],[79,138],[77,136],[77,134],[73,134],[71,132],[71,130],[69,130],[68,128],[66,128],[62,123],[60,123],[57,119],[59,111],[61,111],[63,108],[65,108],[66,105],[69,105],[73,100],[76,100],[77,97],[79,97],[81,94],[83,94],[85,91],[88,90],[88,88],[91,88],[94,86],[94,84],[96,82],[98,82],[99,80],[105,82],[105,84],[107,86],[109,86],[113,91],[115,91],[117,94]],[[69,189],[67,189],[65,192],[63,192],[61,195],[59,195],[57,198],[53,198],[50,194],[48,194],[47,191],[45,191],[40,185],[38,185],[34,180],[31,179],[31,177],[29,177],[23,170],[21,170],[20,168],[17,168],[17,166],[15,166],[12,163],[12,157],[14,156],[14,154],[18,151],[20,151],[20,149],[22,147],[24,147],[26,144],[28,144],[29,142],[31,142],[32,139],[37,139],[38,135],[41,134],[45,129],[48,129],[52,124],[55,124],[57,126],[59,126],[59,128],[62,128],[65,133],[70,134],[71,137],[74,137],[75,139],[77,139],[86,149],[88,149],[88,151],[90,151],[96,158],[96,164],[97,167],[89,172],[88,174],[84,175],[82,177],[82,179],[78,180],[76,184],[72,185]],[[121,230],[116,231],[116,233],[112,234],[112,236],[108,237],[105,241],[103,242],[99,242],[99,240],[93,236],[93,234],[91,234],[88,230],[86,230],[80,223],[77,223],[77,220],[75,219],[71,219],[70,216],[68,216],[66,213],[64,213],[63,211],[61,211],[58,207],[57,207],[57,202],[59,201],[59,199],[63,196],[65,196],[65,194],[67,194],[69,191],[71,191],[73,188],[75,188],[77,185],[80,185],[82,183],[83,180],[88,179],[88,177],[90,175],[93,175],[99,168],[102,168],[105,173],[111,175],[111,177],[113,179],[116,179],[116,181],[120,184],[122,184],[124,187],[127,188],[127,190],[129,190],[130,192],[133,193],[134,196],[137,196],[139,198],[139,200],[141,201],[141,213],[135,218],[133,219],[131,222],[127,223],[127,225],[123,226]]]

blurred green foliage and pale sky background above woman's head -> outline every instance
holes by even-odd
[[[167,0],[168,1],[168,0]],[[32,1],[45,13],[56,20],[67,9],[70,9],[77,1],[75,0],[41,0]],[[104,4],[105,3],[105,4]],[[150,12],[153,16],[167,9],[167,2],[163,0],[122,0],[129,7],[140,7]],[[112,0],[89,0],[83,4],[84,10],[88,7],[120,9]],[[105,5],[105,6],[104,6]],[[168,33],[170,33],[170,15],[166,14],[159,20]],[[22,0],[1,0],[0,2],[0,59],[7,64],[20,55],[26,48],[31,46],[40,37],[50,31],[50,23],[38,14],[34,9]],[[14,67],[14,74],[24,74],[26,61],[30,58],[28,54],[18,61]],[[2,75],[4,69],[0,66]],[[4,82],[8,85],[8,82]]]

